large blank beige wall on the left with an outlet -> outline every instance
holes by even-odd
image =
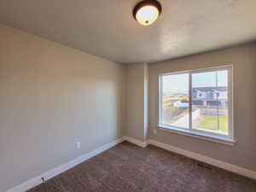
[[[0,37],[0,191],[121,137],[125,67],[6,26]]]

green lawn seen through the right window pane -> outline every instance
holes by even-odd
[[[196,127],[200,127],[207,130],[218,130],[217,129],[217,118],[216,116],[206,116],[203,120],[198,122]],[[220,130],[228,132],[228,114],[224,114],[219,117]]]

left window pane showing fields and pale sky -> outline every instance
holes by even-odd
[[[162,125],[189,128],[189,74],[165,75],[162,85]]]

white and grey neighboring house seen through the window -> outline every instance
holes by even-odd
[[[226,106],[227,87],[195,87],[192,89],[193,105]]]

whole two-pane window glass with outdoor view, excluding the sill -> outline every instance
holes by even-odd
[[[232,137],[231,67],[160,75],[160,125]]]

